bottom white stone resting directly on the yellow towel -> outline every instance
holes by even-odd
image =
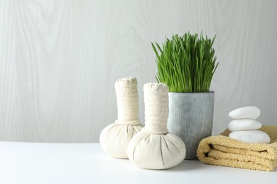
[[[241,142],[247,143],[269,143],[271,142],[270,137],[266,132],[260,130],[241,130],[236,132],[231,132],[229,137],[236,139]]]

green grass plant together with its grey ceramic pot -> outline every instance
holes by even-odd
[[[210,84],[217,69],[212,44],[215,36],[200,38],[189,32],[166,38],[162,47],[152,43],[156,53],[158,82],[168,85],[168,130],[178,135],[187,149],[185,159],[197,159],[199,142],[212,134],[214,92]]]

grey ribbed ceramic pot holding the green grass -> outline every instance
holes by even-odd
[[[200,141],[212,134],[214,92],[168,93],[168,130],[178,135],[187,150],[185,159],[197,159]]]

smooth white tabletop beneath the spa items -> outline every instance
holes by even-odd
[[[108,156],[97,143],[0,142],[0,183],[277,183],[272,172],[183,161],[163,171]]]

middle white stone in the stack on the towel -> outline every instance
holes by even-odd
[[[228,124],[228,129],[231,132],[239,130],[257,130],[261,127],[261,123],[251,119],[232,120]]]

